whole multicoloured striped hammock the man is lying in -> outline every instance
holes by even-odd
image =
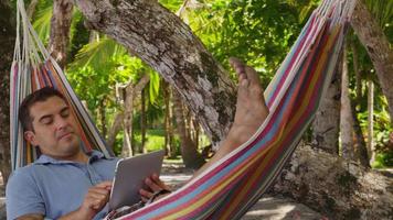
[[[18,2],[19,11],[24,11],[22,3]],[[246,143],[177,191],[120,219],[241,218],[272,185],[314,119],[338,63],[346,23],[354,3],[355,0],[323,0],[314,11],[265,90],[269,108],[267,119]],[[23,33],[29,34],[24,37],[31,42],[23,41],[24,51],[21,53],[20,42],[17,42],[18,53],[11,70],[13,167],[24,165],[29,162],[25,157],[33,156],[22,141],[17,121],[20,100],[44,85],[55,86],[66,94],[84,129],[86,146],[109,153],[61,68],[36,37],[25,13],[20,15]],[[40,48],[44,63],[40,62],[42,57],[36,51],[30,48],[32,44]]]

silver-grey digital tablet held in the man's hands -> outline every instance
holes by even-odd
[[[139,189],[146,177],[160,174],[164,151],[123,158],[117,162],[109,198],[109,211],[140,201]]]

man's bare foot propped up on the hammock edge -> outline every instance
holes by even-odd
[[[233,150],[256,132],[265,121],[268,109],[255,69],[237,58],[230,58],[230,63],[238,76],[235,120],[226,138],[229,147]]]

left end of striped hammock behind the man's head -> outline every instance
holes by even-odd
[[[60,90],[68,103],[72,113],[78,120],[81,139],[86,152],[93,148],[102,151],[106,156],[113,156],[111,148],[107,147],[104,139],[99,135],[97,128],[88,116],[86,109],[75,95],[63,70],[57,63],[49,55],[42,45],[35,31],[25,14],[23,1],[18,1],[18,26],[14,62],[11,67],[10,80],[10,138],[11,138],[11,164],[12,169],[17,169],[32,163],[39,152],[34,151],[24,141],[23,129],[18,121],[18,109],[21,101],[32,91],[50,86]],[[20,22],[22,20],[23,22]],[[22,23],[22,26],[20,26]],[[20,37],[20,32],[23,37]],[[22,38],[22,41],[21,41]],[[23,50],[20,47],[22,44]],[[45,61],[45,62],[42,62]]]

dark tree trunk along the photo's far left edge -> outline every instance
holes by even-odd
[[[10,1],[0,0],[0,172],[4,184],[11,173],[10,155],[10,68],[15,41],[14,13]]]

